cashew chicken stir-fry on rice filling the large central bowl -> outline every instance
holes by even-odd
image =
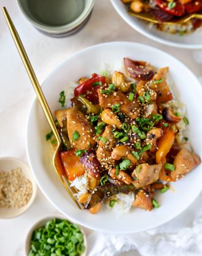
[[[63,167],[91,213],[123,202],[158,208],[156,189],[168,191],[201,162],[185,136],[185,106],[166,81],[169,68],[124,58],[123,69],[80,78],[71,107],[55,111]],[[64,92],[59,101],[65,105]]]

